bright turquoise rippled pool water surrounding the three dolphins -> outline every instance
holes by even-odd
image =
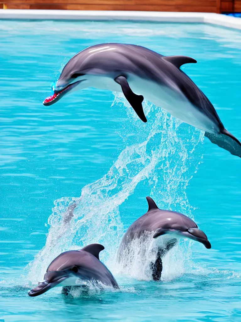
[[[195,58],[198,64],[183,70],[241,139],[239,31],[204,24],[0,21],[0,319],[241,321],[240,158],[150,102],[142,123],[118,93],[89,88],[42,105],[64,64],[104,42]],[[165,257],[160,282],[148,280],[141,267],[123,272],[115,262],[123,233],[147,211],[147,195],[194,218],[212,244],[207,250],[182,241]],[[74,218],[63,225],[73,200]],[[65,297],[55,288],[28,296],[55,256],[91,242],[105,246],[101,260],[121,291],[92,288]]]

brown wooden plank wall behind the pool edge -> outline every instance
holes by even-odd
[[[0,0],[4,9],[241,12],[241,0]]]

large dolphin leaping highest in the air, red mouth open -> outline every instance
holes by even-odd
[[[142,46],[104,43],[73,56],[43,102],[49,106],[67,93],[87,87],[123,92],[143,122],[143,96],[174,117],[205,131],[214,144],[241,157],[241,143],[229,133],[205,94],[180,69],[196,63],[187,56],[163,56]],[[137,95],[139,93],[142,95]]]

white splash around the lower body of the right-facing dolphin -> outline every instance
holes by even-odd
[[[116,273],[140,280],[153,280],[151,267],[156,261],[158,250],[165,250],[167,242],[170,242],[172,237],[174,237],[173,242],[175,242],[177,236],[164,235],[156,239],[152,236],[153,232],[146,232],[140,238],[134,238],[127,245],[121,243],[117,254]],[[176,245],[168,252],[164,251],[161,280],[171,280],[185,272],[183,254],[185,253],[185,258],[187,258],[187,250],[190,252],[191,244],[188,242],[185,247],[183,246],[183,243],[179,244],[178,240]]]

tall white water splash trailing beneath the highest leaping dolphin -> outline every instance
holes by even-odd
[[[146,124],[140,123],[121,93],[115,93],[112,106],[117,105],[129,114],[119,133],[126,146],[108,173],[86,185],[79,198],[54,202],[46,245],[24,271],[31,282],[42,278],[59,253],[94,242],[107,246],[101,259],[113,273],[118,271],[114,254],[124,233],[119,206],[141,182],[149,185],[160,207],[192,217],[185,189],[201,162],[203,132],[148,101],[143,104]]]

